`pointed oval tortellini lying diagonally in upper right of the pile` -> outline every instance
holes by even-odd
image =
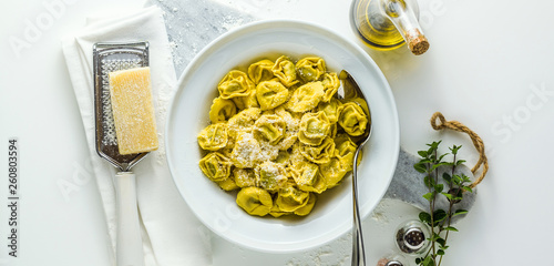
[[[306,83],[293,92],[293,95],[288,100],[287,109],[296,113],[307,112],[315,109],[322,96],[324,84],[320,81]]]

